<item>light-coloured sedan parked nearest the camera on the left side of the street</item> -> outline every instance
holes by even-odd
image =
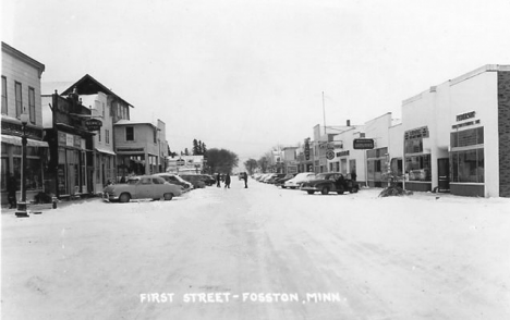
[[[126,183],[110,184],[102,190],[107,201],[129,202],[131,199],[171,200],[182,194],[181,187],[157,175],[141,175],[127,179]]]

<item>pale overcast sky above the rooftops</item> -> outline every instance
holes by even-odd
[[[2,0],[2,40],[167,124],[172,150],[258,159],[363,124],[485,64],[510,64],[510,1]]]

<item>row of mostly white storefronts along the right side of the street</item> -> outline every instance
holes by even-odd
[[[356,141],[372,141],[359,148]],[[282,153],[283,155],[283,153]],[[484,65],[402,102],[402,118],[314,127],[295,153],[299,172],[355,173],[384,187],[510,197],[510,65]]]

